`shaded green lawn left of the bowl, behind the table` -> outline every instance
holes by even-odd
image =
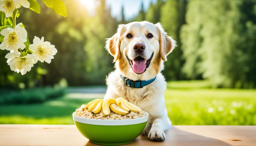
[[[92,99],[48,100],[40,104],[1,105],[1,124],[73,124],[72,113]]]

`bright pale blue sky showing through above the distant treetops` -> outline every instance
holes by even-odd
[[[97,0],[79,0],[83,5],[85,5],[91,15],[94,14],[95,7],[99,4]],[[157,0],[106,0],[106,6],[111,8],[111,16],[121,19],[122,6],[124,7],[125,20],[133,18],[136,16],[140,9],[141,3],[144,5],[144,11],[148,9],[150,3],[156,3]]]

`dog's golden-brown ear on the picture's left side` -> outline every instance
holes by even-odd
[[[121,33],[123,30],[123,25],[118,26],[117,32],[111,37],[108,38],[106,41],[106,50],[114,56],[114,62],[119,59],[120,56],[120,45],[121,45]]]

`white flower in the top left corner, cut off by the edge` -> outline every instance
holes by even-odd
[[[5,17],[10,17],[13,15],[15,8],[20,7],[21,0],[1,0],[0,1],[0,11],[5,13]]]

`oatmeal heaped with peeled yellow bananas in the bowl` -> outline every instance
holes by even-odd
[[[145,117],[146,113],[138,106],[119,97],[94,99],[76,109],[74,115],[88,119],[122,120]]]

